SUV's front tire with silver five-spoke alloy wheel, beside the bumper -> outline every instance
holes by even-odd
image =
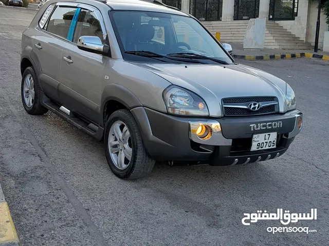
[[[104,148],[112,172],[122,179],[151,173],[155,160],[145,151],[134,116],[126,109],[115,111],[105,125]]]

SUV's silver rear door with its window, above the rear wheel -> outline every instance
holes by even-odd
[[[62,50],[67,44],[77,4],[50,5],[39,22],[39,34],[34,38],[33,49],[41,66],[39,80],[44,93],[59,101]]]

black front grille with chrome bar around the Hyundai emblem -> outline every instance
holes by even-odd
[[[244,116],[244,115],[260,115],[260,114],[272,114],[279,111],[279,104],[264,106],[257,111],[251,111],[247,108],[237,108],[236,106],[248,107],[249,103],[252,102],[265,102],[265,101],[276,101],[277,97],[273,96],[260,96],[260,97],[235,97],[235,98],[224,98],[223,109],[225,116]],[[225,107],[235,106],[235,107]]]

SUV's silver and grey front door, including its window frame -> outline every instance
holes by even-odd
[[[71,42],[62,51],[60,99],[64,107],[99,123],[103,87],[103,68],[108,57],[80,50],[80,36],[98,36],[105,44],[106,31],[101,13],[79,5],[79,15]]]

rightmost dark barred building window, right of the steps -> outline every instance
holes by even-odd
[[[270,0],[270,20],[294,20],[298,14],[298,0]]]

